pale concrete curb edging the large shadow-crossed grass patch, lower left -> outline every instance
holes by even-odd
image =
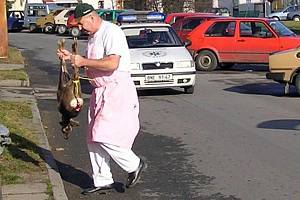
[[[68,200],[58,167],[51,153],[49,142],[43,128],[40,111],[36,101],[32,104],[33,123],[37,127],[37,131],[42,133],[40,137],[40,147],[44,149],[43,155],[48,169],[49,179],[52,185],[53,197],[55,200]],[[1,200],[1,199],[0,199]]]

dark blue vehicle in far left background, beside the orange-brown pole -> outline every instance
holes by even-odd
[[[20,10],[7,12],[7,30],[21,31],[24,24],[24,12]]]

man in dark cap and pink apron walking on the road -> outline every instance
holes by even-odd
[[[102,20],[89,4],[79,4],[74,15],[79,28],[89,34],[86,57],[67,50],[58,50],[57,54],[71,60],[74,67],[85,67],[94,88],[87,133],[94,187],[83,194],[113,188],[111,158],[128,172],[129,188],[139,179],[144,162],[131,150],[139,131],[139,102],[130,77],[126,37],[118,26]]]

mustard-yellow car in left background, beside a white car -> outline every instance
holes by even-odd
[[[54,17],[57,16],[63,9],[53,10],[45,17],[40,17],[36,20],[36,29],[41,29],[45,33],[53,33],[55,30]]]

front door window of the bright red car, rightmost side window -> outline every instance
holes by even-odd
[[[272,32],[262,22],[242,21],[240,22],[240,37],[272,37]]]

